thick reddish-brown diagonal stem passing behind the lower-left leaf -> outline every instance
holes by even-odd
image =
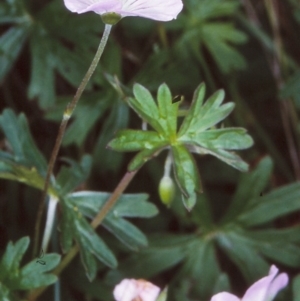
[[[128,184],[132,181],[134,176],[138,170],[127,172],[125,176],[122,178],[122,180],[119,182],[118,186],[115,188],[114,192],[111,194],[110,198],[107,200],[107,202],[104,204],[104,206],[100,209],[99,213],[95,216],[95,218],[91,222],[91,226],[96,229],[103,221],[107,213],[110,211],[110,209],[116,204],[117,200],[121,196],[121,194],[124,192]],[[67,266],[68,264],[73,260],[73,258],[77,255],[79,251],[78,245],[73,246],[70,251],[67,253],[67,255],[63,258],[59,266],[53,270],[54,275],[59,275]],[[44,290],[47,287],[40,287],[38,289],[33,290],[29,293],[27,300],[28,301],[35,301],[38,296],[40,296]]]

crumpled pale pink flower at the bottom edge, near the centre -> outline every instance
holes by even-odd
[[[114,289],[116,301],[155,301],[160,288],[143,279],[124,279]]]

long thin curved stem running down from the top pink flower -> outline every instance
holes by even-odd
[[[38,209],[38,214],[37,214],[37,220],[36,220],[36,224],[35,224],[35,234],[34,234],[34,248],[33,248],[33,254],[34,256],[37,254],[37,249],[38,249],[38,244],[39,244],[39,235],[40,235],[40,225],[41,225],[41,221],[42,221],[42,216],[43,216],[43,211],[44,211],[44,206],[45,206],[45,198],[47,196],[47,192],[48,192],[48,188],[50,185],[50,178],[53,172],[53,168],[54,168],[54,164],[56,162],[56,158],[57,158],[57,154],[58,151],[60,149],[60,145],[64,136],[64,133],[66,131],[66,127],[68,124],[69,119],[71,118],[76,105],[87,85],[87,83],[89,82],[92,74],[94,73],[99,60],[102,56],[102,53],[104,51],[104,48],[106,46],[110,31],[111,31],[112,25],[109,24],[105,24],[105,28],[104,28],[104,32],[103,32],[103,36],[102,39],[100,41],[98,50],[95,54],[95,57],[87,71],[87,73],[85,74],[82,82],[80,83],[77,92],[73,98],[73,100],[67,105],[64,114],[63,114],[63,119],[62,122],[60,124],[59,130],[58,130],[58,135],[56,137],[56,141],[55,141],[55,145],[54,148],[52,150],[51,153],[51,157],[49,160],[49,164],[48,164],[48,170],[47,170],[47,175],[46,175],[46,179],[45,179],[45,186],[44,186],[44,190],[43,190],[43,195],[42,195],[42,200],[40,202],[39,205],[39,209]]]

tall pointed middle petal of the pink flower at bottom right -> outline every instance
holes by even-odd
[[[263,277],[256,281],[247,291],[242,301],[265,301],[269,287],[278,273],[278,269],[273,265],[270,269],[269,276]]]

